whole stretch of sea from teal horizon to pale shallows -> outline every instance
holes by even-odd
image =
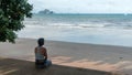
[[[132,46],[132,14],[34,14],[19,38]]]

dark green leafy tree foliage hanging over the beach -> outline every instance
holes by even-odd
[[[14,43],[14,32],[24,28],[23,20],[32,17],[32,9],[28,0],[0,0],[0,42]]]

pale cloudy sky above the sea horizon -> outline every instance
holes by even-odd
[[[50,9],[56,13],[132,13],[132,0],[29,0],[33,12]]]

